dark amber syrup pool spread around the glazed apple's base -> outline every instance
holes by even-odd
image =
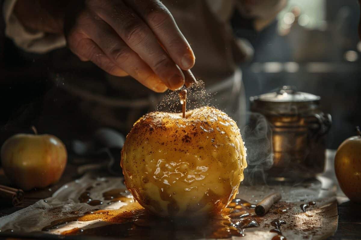
[[[87,194],[84,194],[87,196]],[[122,198],[127,204],[116,210],[97,210],[57,219],[45,226],[42,231],[50,231],[74,221],[101,220],[108,224],[99,227],[73,228],[62,232],[63,235],[93,235],[109,237],[129,237],[131,239],[201,239],[231,238],[244,236],[245,229],[257,227],[255,205],[234,199],[232,203],[215,216],[192,218],[157,217],[148,213],[138,202],[131,202],[124,190],[114,189],[103,193],[111,201]],[[88,197],[88,196],[87,196]],[[111,198],[112,197],[112,198]]]

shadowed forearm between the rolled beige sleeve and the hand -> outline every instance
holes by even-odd
[[[14,14],[29,30],[62,34],[68,1],[17,0]]]

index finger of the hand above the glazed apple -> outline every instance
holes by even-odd
[[[159,0],[125,0],[143,18],[173,61],[183,70],[195,63],[195,56],[169,10]]]

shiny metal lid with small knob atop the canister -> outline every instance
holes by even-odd
[[[296,91],[295,87],[283,86],[275,92],[251,97],[251,110],[266,115],[308,116],[319,110],[321,98],[306,92]]]

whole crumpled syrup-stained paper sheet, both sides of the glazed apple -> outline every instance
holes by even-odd
[[[90,206],[86,203],[79,203],[79,195],[90,186],[92,199],[103,200],[102,193],[112,189],[125,189],[123,178],[107,177],[96,178],[90,174],[70,182],[58,189],[51,198],[40,200],[35,204],[19,210],[9,216],[0,218],[0,230],[12,229],[14,232],[38,232],[50,222],[66,217],[73,217],[72,211],[84,213],[96,209],[118,209],[122,202]],[[269,212],[266,214],[259,227],[245,229],[244,237],[233,237],[232,239],[272,239],[275,233],[270,232],[270,222],[280,218],[287,222],[282,226],[282,233],[288,239],[325,239],[331,236],[337,229],[337,203],[335,200],[336,186],[332,180],[326,177],[319,177],[318,180],[304,182],[293,186],[287,185],[241,185],[237,197],[251,203],[257,203],[271,192],[279,191],[282,194],[282,201],[289,203],[290,209],[287,214]],[[127,193],[125,193],[127,194]],[[129,194],[129,193],[128,193]],[[131,198],[131,195],[128,195]],[[304,213],[299,205],[308,201],[316,201],[316,205],[307,209]],[[76,215],[75,215],[76,216]],[[66,230],[75,227],[82,229],[98,227],[109,223],[101,220],[87,222],[69,222],[47,233],[61,234]]]

